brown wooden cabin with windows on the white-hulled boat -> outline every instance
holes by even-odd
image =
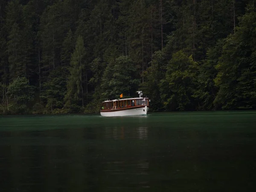
[[[148,98],[115,99],[102,102],[102,111],[122,110],[138,106],[148,106]]]

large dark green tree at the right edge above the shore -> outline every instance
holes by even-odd
[[[214,104],[223,109],[248,108],[256,105],[256,41],[253,38],[256,35],[256,12],[254,8],[249,9],[239,21],[236,34],[226,39],[222,55],[216,65],[218,74],[214,81],[219,91]]]

